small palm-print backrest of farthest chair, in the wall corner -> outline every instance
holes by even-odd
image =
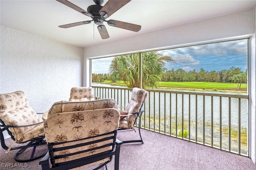
[[[92,87],[72,87],[69,101],[81,101],[82,98],[94,99]]]

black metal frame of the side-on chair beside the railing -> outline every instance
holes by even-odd
[[[137,115],[134,121],[134,124],[137,122],[138,118],[139,118],[139,125],[138,125],[138,129],[139,129],[139,134],[140,134],[140,140],[124,140],[122,141],[123,143],[133,143],[133,142],[142,142],[142,144],[144,144],[142,137],[141,137],[141,133],[140,133],[140,125],[141,125],[141,119],[142,119],[142,113],[144,112],[144,110],[141,110],[143,106],[143,103],[140,107],[140,110],[136,113],[132,113],[132,114],[128,114],[128,115],[122,115],[122,116],[132,116],[132,115]],[[120,108],[125,108],[125,107],[120,107]],[[129,128],[132,129],[132,128]],[[118,130],[128,130],[127,128],[118,128]]]

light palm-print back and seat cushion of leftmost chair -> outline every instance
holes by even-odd
[[[24,126],[40,122],[38,115],[28,104],[24,91],[0,94],[0,119],[7,126]],[[34,127],[36,125],[10,128],[10,131],[19,143],[31,139],[31,136],[24,134]]]

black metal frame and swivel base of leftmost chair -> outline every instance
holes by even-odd
[[[36,123],[36,124],[32,124],[32,125],[24,125],[24,126],[7,126],[1,119],[0,119],[0,123],[2,125],[0,125],[0,141],[1,141],[1,146],[2,148],[4,148],[5,150],[8,150],[8,146],[6,146],[5,141],[4,141],[4,130],[6,130],[8,132],[8,134],[10,135],[10,137],[12,138],[12,140],[15,140],[12,132],[10,131],[9,128],[17,128],[17,127],[28,127],[28,126],[34,126],[34,125],[38,125],[40,123]],[[2,128],[1,128],[2,127]],[[46,144],[46,140],[44,140],[45,136],[39,136],[37,138],[33,138],[31,140],[28,140],[26,142],[28,142],[28,144],[23,145],[23,146],[17,146],[17,147],[12,147],[10,148],[10,150],[18,150],[18,152],[16,152],[15,156],[14,156],[14,160],[16,160],[17,162],[30,162],[39,158],[42,158],[46,153],[41,154],[40,156],[36,156],[34,157],[35,151],[36,151],[36,146],[40,146],[40,145],[44,145]],[[19,144],[23,144],[26,142],[20,142]],[[31,156],[29,159],[19,159],[18,155],[22,154],[22,152],[24,152],[27,148],[30,147],[34,147],[31,153]]]

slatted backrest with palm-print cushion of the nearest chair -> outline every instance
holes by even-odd
[[[114,150],[119,119],[120,113],[115,108],[49,116],[44,122],[44,129],[51,164],[70,169],[79,163],[87,164],[82,167],[79,164],[79,168],[84,168],[110,161],[112,156],[109,152]]]

